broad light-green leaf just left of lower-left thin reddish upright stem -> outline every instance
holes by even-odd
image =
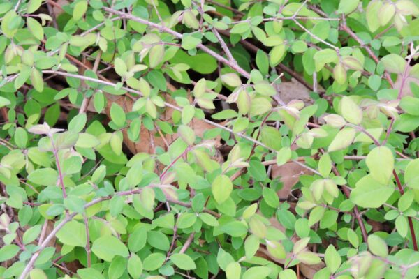
[[[57,239],[69,246],[85,247],[87,243],[86,227],[75,220],[70,221],[57,232]]]

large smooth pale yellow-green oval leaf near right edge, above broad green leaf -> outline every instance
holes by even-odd
[[[395,158],[391,150],[386,146],[378,146],[368,153],[365,160],[369,172],[376,181],[388,184],[395,166]]]

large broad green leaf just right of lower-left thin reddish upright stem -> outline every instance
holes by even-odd
[[[115,236],[101,236],[94,241],[91,247],[94,254],[104,259],[106,262],[111,262],[116,255],[128,257],[128,248]]]

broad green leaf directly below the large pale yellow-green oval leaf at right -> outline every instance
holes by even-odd
[[[382,206],[394,192],[394,188],[376,181],[370,174],[362,177],[351,192],[351,201],[369,209]]]

